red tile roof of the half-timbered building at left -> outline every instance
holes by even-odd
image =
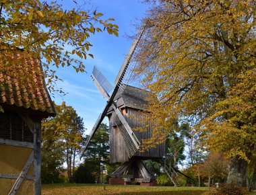
[[[20,58],[21,65],[9,65],[4,72],[0,65],[0,104],[30,108],[54,116],[55,108],[46,89],[40,61],[20,54],[16,57]]]

